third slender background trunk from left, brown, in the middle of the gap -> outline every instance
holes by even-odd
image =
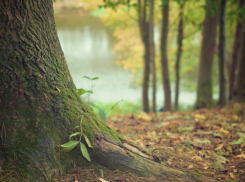
[[[161,37],[161,65],[162,65],[162,79],[164,88],[164,111],[171,111],[171,91],[169,83],[168,71],[168,55],[167,55],[167,37],[168,37],[168,15],[169,2],[163,5],[162,8],[162,37]]]

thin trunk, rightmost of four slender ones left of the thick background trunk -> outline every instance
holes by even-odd
[[[179,100],[179,82],[180,82],[180,58],[182,53],[182,41],[184,38],[184,27],[183,27],[183,8],[184,4],[180,4],[180,13],[179,13],[179,25],[178,25],[178,51],[177,51],[177,59],[175,64],[175,102],[174,108],[175,111],[178,111],[178,100]]]

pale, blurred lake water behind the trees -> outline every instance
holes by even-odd
[[[113,30],[106,27],[99,18],[78,10],[56,14],[55,21],[76,87],[90,90],[91,82],[83,76],[99,77],[99,80],[92,83],[94,94],[90,95],[90,102],[141,102],[142,91],[130,83],[131,72],[115,64],[117,53],[113,53],[113,46],[117,39],[112,36]],[[151,98],[151,89],[149,94]],[[84,99],[88,101],[88,97]],[[159,108],[163,105],[163,100],[163,87],[158,85]],[[180,93],[179,102],[183,105],[192,105],[195,100],[194,92]]]

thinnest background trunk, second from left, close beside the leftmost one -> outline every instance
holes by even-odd
[[[149,40],[150,40],[150,62],[152,65],[152,111],[156,112],[156,64],[155,64],[155,46],[154,46],[154,0],[150,2],[149,18]]]

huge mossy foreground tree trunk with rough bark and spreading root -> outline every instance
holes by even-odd
[[[61,153],[56,147],[68,141],[84,118],[82,131],[94,147],[89,154],[95,165],[141,176],[183,176],[147,154],[132,152],[79,98],[57,37],[52,5],[52,0],[0,1],[2,170],[15,171],[17,181],[38,182],[64,175],[74,162],[85,166],[78,148]]]

